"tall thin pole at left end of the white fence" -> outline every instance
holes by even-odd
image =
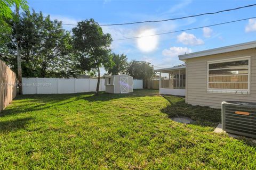
[[[19,6],[17,4],[16,4],[16,15],[17,15],[17,18],[19,18]],[[21,71],[20,47],[19,47],[18,39],[17,39],[17,67],[18,67],[19,94],[22,95],[22,71]]]

